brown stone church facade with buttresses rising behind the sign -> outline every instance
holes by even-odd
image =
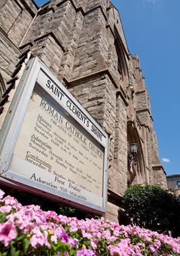
[[[167,188],[145,78],[112,3],[51,0],[38,9],[32,0],[1,0],[0,10],[0,126],[37,56],[109,135],[106,217],[117,221],[127,184]]]

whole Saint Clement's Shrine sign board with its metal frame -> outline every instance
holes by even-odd
[[[1,177],[105,212],[108,135],[37,58],[1,132]]]

